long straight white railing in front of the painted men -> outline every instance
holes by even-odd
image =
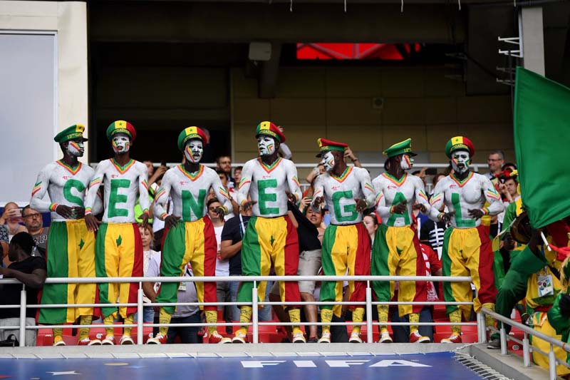
[[[253,309],[252,322],[247,324],[240,322],[219,322],[216,324],[207,323],[191,323],[191,324],[149,324],[144,323],[142,319],[142,282],[253,282],[254,287],[252,289],[252,302],[172,302],[172,303],[151,303],[144,304],[145,307],[150,306],[168,306],[168,305],[204,305],[204,306],[227,306],[227,305],[251,305]],[[364,302],[259,302],[257,299],[257,282],[260,281],[366,281],[366,300]],[[434,282],[471,282],[471,277],[445,277],[445,276],[224,276],[224,277],[51,277],[46,279],[46,284],[93,284],[93,283],[132,283],[138,282],[138,299],[137,303],[110,303],[110,304],[26,304],[26,287],[23,285],[21,291],[21,300],[19,305],[0,305],[0,309],[20,309],[20,324],[19,326],[4,326],[0,329],[17,329],[19,328],[19,344],[20,346],[25,345],[26,329],[43,329],[43,328],[76,328],[77,326],[72,326],[69,324],[49,324],[49,325],[39,325],[39,326],[26,326],[26,308],[58,308],[58,307],[137,307],[138,321],[136,324],[113,324],[113,327],[137,327],[137,344],[142,344],[142,327],[204,327],[204,326],[252,326],[252,339],[253,343],[259,343],[259,325],[274,325],[274,326],[291,326],[294,323],[291,322],[259,322],[258,321],[258,307],[260,305],[323,305],[323,304],[341,304],[341,305],[356,305],[363,304],[366,307],[366,315],[372,315],[373,305],[385,304],[385,305],[398,305],[398,304],[445,304],[445,305],[462,305],[468,304],[472,305],[473,302],[373,302],[372,300],[372,287],[371,281],[434,281]],[[0,279],[0,284],[20,284],[16,279]],[[316,325],[322,326],[323,322],[306,322],[306,325]],[[373,322],[371,318],[368,318],[366,322],[331,322],[327,323],[333,326],[336,325],[355,325],[361,326],[366,325],[367,335],[366,342],[373,342],[373,326],[379,326],[380,322]],[[451,322],[387,322],[383,323],[390,326],[410,326],[415,324],[418,326],[450,326],[452,324],[460,324],[463,326],[477,326],[477,337],[479,342],[484,342],[485,339],[485,329],[484,329],[484,319],[481,314],[477,314],[477,322],[462,322],[462,323],[451,323]],[[86,324],[81,325],[81,327],[101,327],[101,324]]]

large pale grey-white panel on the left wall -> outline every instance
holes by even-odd
[[[54,160],[56,36],[0,34],[0,205],[28,204]]]

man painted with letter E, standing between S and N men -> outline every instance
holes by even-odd
[[[116,120],[107,128],[107,138],[115,153],[113,158],[101,161],[95,169],[85,202],[85,222],[89,230],[97,231],[95,241],[95,269],[97,277],[142,276],[142,244],[135,224],[137,197],[142,207],[142,226],[149,219],[148,170],[145,164],[130,158],[130,147],[136,138],[135,128],[125,120]],[[93,216],[92,208],[100,185],[105,184],[105,212],[103,222]],[[118,184],[111,190],[111,183]],[[99,283],[102,304],[135,303],[137,287],[128,282]],[[136,307],[101,307],[105,339],[101,344],[115,344],[112,326],[117,313],[125,324],[133,324]],[[130,337],[132,327],[124,327],[120,344],[134,344]]]

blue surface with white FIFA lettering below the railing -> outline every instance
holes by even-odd
[[[381,356],[0,359],[0,379],[481,379],[451,352]]]

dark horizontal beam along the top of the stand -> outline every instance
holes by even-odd
[[[465,17],[456,4],[93,2],[91,41],[461,43]],[[128,16],[125,16],[128,15]]]

